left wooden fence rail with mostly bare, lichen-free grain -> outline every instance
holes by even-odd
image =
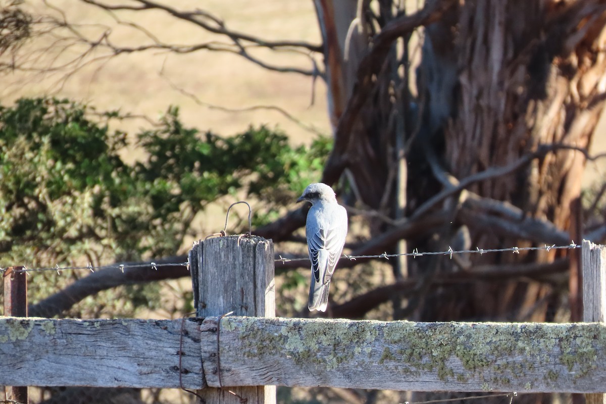
[[[201,388],[199,325],[184,322],[182,381]],[[0,385],[179,388],[181,320],[0,317]]]

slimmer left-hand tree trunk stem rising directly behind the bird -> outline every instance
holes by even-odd
[[[395,118],[402,111],[402,99],[396,94],[400,89],[395,88],[394,80],[398,79],[399,65],[395,47],[388,43],[382,57],[368,61],[367,66],[375,70],[375,74],[366,78],[365,84],[371,84],[368,94],[360,96],[359,67],[376,33],[368,9],[370,1],[316,0],[315,4],[324,40],[329,113],[337,133],[337,153],[332,157],[335,161],[347,159],[345,166],[335,161],[329,163],[340,166],[338,173],[326,177],[330,169],[325,170],[323,180],[335,182],[344,168],[353,197],[372,209],[385,209],[395,195],[387,183],[395,181],[398,170],[394,151]],[[381,1],[379,4],[382,24],[386,24],[393,19],[391,3]],[[376,44],[373,46],[376,48]],[[351,115],[352,100],[359,102],[355,119],[345,117],[351,125],[339,130],[344,112]],[[371,233],[376,231],[378,228],[371,229]]]

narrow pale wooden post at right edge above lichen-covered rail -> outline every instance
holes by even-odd
[[[583,321],[603,323],[606,317],[606,247],[583,240]],[[587,404],[606,404],[606,394],[585,394]]]

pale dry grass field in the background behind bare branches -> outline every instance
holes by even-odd
[[[116,45],[134,47],[150,43],[140,31],[118,24],[112,15],[84,2],[29,0],[25,5],[35,15],[50,13],[59,18],[60,13],[52,7],[62,10],[67,21],[79,24],[81,31],[91,38],[99,38],[104,31],[111,30],[110,39]],[[178,1],[172,5],[183,10],[201,7],[201,3],[196,1]],[[320,43],[311,1],[210,0],[205,1],[202,7],[223,19],[231,30],[268,40]],[[167,43],[228,42],[224,37],[211,35],[164,12],[119,12],[116,16],[124,22],[141,25]],[[43,41],[33,40],[27,45],[26,49],[38,58],[36,67],[47,65],[62,49],[62,44],[55,44],[50,50],[36,53],[49,44],[50,38],[45,38]],[[64,51],[55,64],[73,58],[82,50],[83,47],[73,47]],[[92,56],[98,58],[105,54],[107,51],[99,50]],[[275,65],[306,70],[311,68],[307,56],[296,53],[257,50],[255,56]],[[237,110],[256,105],[276,105],[322,133],[330,133],[325,86],[321,79],[315,82],[312,105],[314,84],[310,77],[268,71],[230,53],[201,50],[175,55],[168,51],[151,50],[100,59],[67,79],[64,78],[65,73],[61,71],[44,76],[15,73],[2,79],[0,98],[6,104],[21,96],[55,94],[95,105],[99,110],[119,108],[125,113],[144,114],[150,118],[157,118],[167,110],[168,105],[179,105],[184,122],[200,130],[212,130],[228,136],[244,130],[250,124],[278,125],[293,141],[307,142],[313,133],[302,130],[277,111],[229,112],[210,107],[215,105]],[[127,130],[133,130],[144,124],[143,121],[130,121],[122,125]]]

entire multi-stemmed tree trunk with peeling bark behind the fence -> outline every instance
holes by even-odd
[[[345,171],[359,202],[390,217],[405,205],[407,216],[415,216],[423,214],[419,207],[431,197],[462,179],[512,167],[508,174],[471,181],[464,192],[431,205],[450,211],[451,220],[431,239],[410,240],[411,247],[443,251],[548,243],[515,231],[522,220],[541,220],[579,234],[571,210],[578,210],[586,156],[572,148],[587,151],[604,107],[604,1],[428,1],[421,12],[407,16],[403,9],[394,12],[391,2],[378,1],[371,8],[370,1],[361,0],[353,24],[360,24],[357,28],[350,28],[354,2],[347,2],[350,12],[339,17],[328,11],[337,3],[342,4],[316,1],[325,34],[328,97],[344,102],[343,94],[349,94],[346,105],[331,111],[338,124],[324,180],[334,182]],[[349,24],[342,18],[349,18]],[[405,45],[414,28],[408,23],[426,28],[416,99],[408,80]],[[375,35],[376,27],[380,31]],[[356,43],[364,35],[370,43],[365,55],[354,55],[359,59],[353,84],[356,59],[350,56],[345,62],[342,47],[327,35],[345,38],[346,29],[357,35]],[[403,150],[396,147],[402,144]],[[400,158],[407,170],[398,170]],[[527,162],[519,164],[521,159]],[[404,184],[393,170],[408,175]],[[404,204],[396,202],[395,184],[406,187]],[[484,205],[472,205],[470,196]],[[499,220],[509,220],[510,228],[494,226]],[[371,225],[371,234],[384,229],[385,224]],[[473,271],[477,265],[552,262],[568,251],[474,254],[409,264],[412,274],[429,279],[436,271]],[[571,271],[570,276],[577,274]],[[567,285],[578,287],[578,279],[562,283]],[[538,280],[476,282],[432,294],[423,285],[418,290],[417,296],[407,296],[408,313],[423,321],[550,321],[567,305],[553,282]],[[577,296],[570,292],[571,299]]]

